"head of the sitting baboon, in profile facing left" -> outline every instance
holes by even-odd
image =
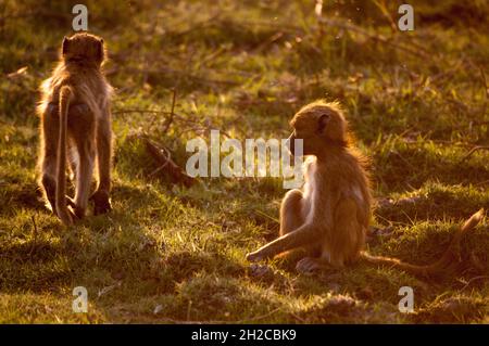
[[[292,154],[294,139],[302,139],[304,155],[318,155],[330,146],[348,145],[348,125],[338,102],[310,103],[293,116],[290,126],[293,128],[289,138]]]

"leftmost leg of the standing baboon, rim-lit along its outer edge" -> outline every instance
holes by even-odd
[[[47,204],[51,210],[57,214],[55,192],[57,192],[57,153],[58,153],[58,132],[60,121],[58,118],[58,108],[48,106],[42,116],[41,124],[41,149],[39,167],[41,169],[40,183],[42,185]]]

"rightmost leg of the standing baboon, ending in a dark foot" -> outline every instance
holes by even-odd
[[[111,161],[112,161],[112,128],[111,114],[108,108],[102,110],[102,117],[97,126],[97,166],[98,187],[92,195],[95,215],[104,214],[112,209],[111,192]]]

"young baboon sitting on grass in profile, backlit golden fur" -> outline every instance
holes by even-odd
[[[280,236],[247,255],[250,261],[303,247],[309,256],[297,264],[300,272],[325,266],[343,267],[363,259],[419,275],[436,275],[453,270],[459,261],[460,241],[482,218],[474,214],[453,236],[442,257],[427,266],[415,266],[396,258],[368,255],[363,251],[371,220],[372,193],[366,158],[352,143],[339,103],[316,101],[300,110],[290,125],[294,139],[303,140],[304,185],[289,191],[280,206]]]

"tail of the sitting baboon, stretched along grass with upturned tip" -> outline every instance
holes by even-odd
[[[465,233],[474,229],[477,223],[480,222],[482,217],[484,209],[480,209],[479,212],[471,216],[471,218],[465,221],[465,223],[456,231],[455,235],[450,242],[449,247],[441,256],[441,258],[431,265],[416,266],[403,262],[397,258],[372,256],[365,252],[361,254],[361,259],[365,260],[368,264],[390,266],[421,277],[436,277],[450,273],[460,265],[460,242],[462,238],[465,235]]]

